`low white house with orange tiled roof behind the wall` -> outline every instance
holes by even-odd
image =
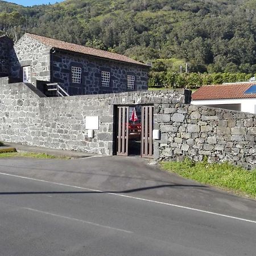
[[[256,81],[202,86],[191,104],[256,114]]]

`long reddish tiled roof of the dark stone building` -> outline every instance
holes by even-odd
[[[34,35],[29,33],[26,33],[26,35],[38,40],[43,44],[46,44],[47,46],[51,46],[57,49],[63,49],[66,51],[77,52],[85,55],[91,55],[91,56],[100,57],[104,59],[122,61],[126,63],[132,63],[132,64],[143,65],[144,67],[148,67],[148,65],[146,64],[143,64],[137,60],[133,60],[127,56],[124,56],[118,53],[102,51],[101,49],[96,49],[96,48],[91,48],[86,46],[80,46],[79,44],[67,43],[67,42],[52,39],[52,38],[46,38],[45,36],[39,36],[39,35]]]

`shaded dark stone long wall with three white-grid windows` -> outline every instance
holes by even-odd
[[[148,68],[141,65],[97,59],[56,51],[52,54],[53,82],[59,82],[69,95],[127,92],[127,75],[135,76],[134,90],[146,90]],[[71,69],[82,68],[81,84],[72,83]],[[110,72],[110,86],[101,85],[101,72]]]

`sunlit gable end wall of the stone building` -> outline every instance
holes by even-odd
[[[30,36],[24,35],[11,51],[11,76],[22,81],[22,67],[31,66],[31,82],[50,81],[50,49]]]

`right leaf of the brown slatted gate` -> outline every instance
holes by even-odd
[[[141,156],[153,158],[153,110],[154,106],[142,106],[141,114]]]

